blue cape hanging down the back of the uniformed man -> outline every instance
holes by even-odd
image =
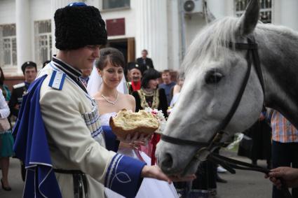
[[[46,76],[36,79],[23,97],[22,106],[15,123],[13,134],[16,135],[15,155],[25,163],[27,169],[23,197],[62,198],[57,184],[46,137],[39,95]]]

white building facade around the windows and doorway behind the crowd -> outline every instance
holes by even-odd
[[[0,1],[0,24],[16,23],[16,3],[23,0]],[[24,0],[29,3],[29,40],[31,49],[30,59],[36,59],[34,53],[34,22],[38,20],[53,20],[57,8],[66,6],[71,0]],[[206,21],[202,14],[185,15],[184,35],[182,35],[182,17],[178,0],[130,0],[130,8],[116,10],[102,10],[102,0],[78,0],[88,5],[100,8],[104,20],[124,17],[126,21],[126,33],[121,36],[109,36],[109,39],[135,38],[135,57],[140,57],[141,50],[147,48],[149,57],[156,63],[156,69],[180,68],[182,62],[183,42],[185,48],[190,45]],[[233,16],[234,0],[206,0],[208,8],[215,17]],[[273,24],[281,24],[298,31],[298,1],[297,0],[273,0]],[[53,23],[52,23],[53,26]],[[54,35],[54,27],[52,27]],[[55,37],[53,36],[53,39]],[[53,42],[54,44],[54,42]],[[55,54],[55,50],[53,51]],[[18,67],[20,67],[18,63]],[[14,69],[7,69],[8,75],[15,75]]]

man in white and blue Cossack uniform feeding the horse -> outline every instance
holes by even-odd
[[[70,3],[54,19],[59,51],[23,97],[14,129],[27,169],[24,197],[105,197],[104,187],[135,197],[143,177],[170,181],[158,167],[114,153],[116,136],[103,135],[97,104],[79,80],[107,42],[100,11]]]

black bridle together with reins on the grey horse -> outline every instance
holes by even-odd
[[[240,90],[238,91],[237,97],[235,101],[233,102],[233,105],[231,106],[231,109],[229,113],[226,115],[224,120],[220,123],[217,132],[212,136],[212,138],[208,142],[203,141],[192,141],[187,139],[178,139],[172,136],[166,136],[164,134],[161,134],[161,139],[163,141],[182,145],[182,146],[203,146],[203,148],[199,148],[196,152],[196,155],[194,155],[195,160],[199,161],[205,161],[210,160],[212,162],[215,162],[216,164],[220,164],[222,167],[224,167],[226,170],[228,170],[231,174],[236,174],[236,171],[234,169],[242,169],[242,170],[249,170],[249,171],[258,171],[264,174],[269,174],[269,169],[264,169],[262,167],[248,164],[246,162],[241,162],[239,160],[233,160],[229,157],[224,157],[222,155],[219,155],[217,153],[212,153],[212,150],[214,148],[219,148],[224,146],[225,143],[221,143],[222,136],[224,135],[224,129],[231,121],[231,118],[233,117],[234,113],[236,112],[241,98],[243,96],[243,92],[245,91],[245,87],[248,84],[248,79],[250,77],[250,71],[252,69],[252,62],[255,66],[255,71],[257,72],[257,76],[259,78],[259,82],[262,86],[264,99],[265,99],[265,88],[264,88],[264,78],[262,75],[262,69],[260,66],[259,61],[259,54],[258,54],[258,45],[255,43],[255,38],[252,36],[252,38],[247,38],[248,43],[232,43],[228,42],[225,43],[229,48],[236,49],[236,50],[247,50],[246,53],[246,61],[248,62],[248,70],[245,73],[245,77],[243,78],[243,82],[241,85]],[[264,106],[264,104],[263,104]],[[280,178],[279,178],[280,179]],[[280,179],[282,185],[282,191],[286,198],[292,197],[289,190],[286,188],[285,183],[282,179]]]

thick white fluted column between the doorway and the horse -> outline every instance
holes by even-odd
[[[143,49],[158,71],[168,69],[167,1],[137,0],[136,57]]]

